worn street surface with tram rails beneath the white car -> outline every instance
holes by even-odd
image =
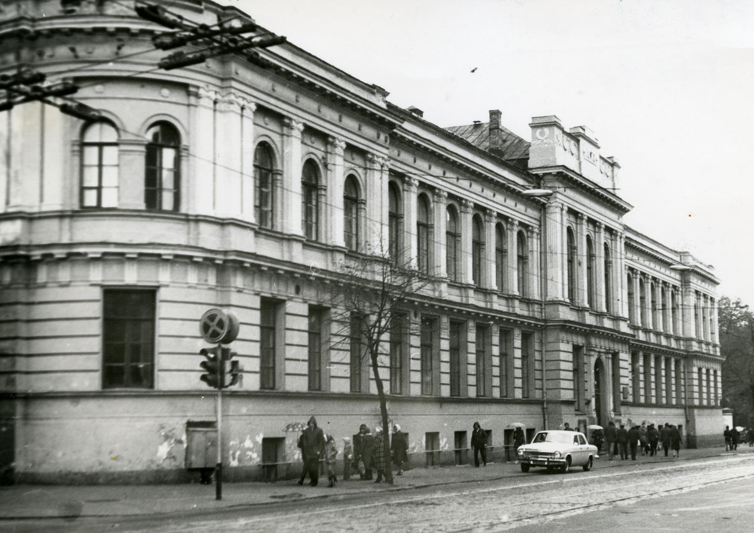
[[[366,483],[366,482],[365,482]],[[406,492],[333,496],[202,516],[29,519],[0,531],[741,531],[754,520],[754,456],[723,455]],[[549,522],[549,523],[547,523]]]

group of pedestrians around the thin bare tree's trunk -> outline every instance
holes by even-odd
[[[386,457],[385,441],[390,439],[381,427],[375,428],[375,434],[366,424],[359,427],[359,432],[351,437],[343,437],[343,480],[351,479],[351,472],[357,471],[360,480],[372,480],[373,471],[377,471],[375,483],[382,483],[385,479]],[[338,478],[335,474],[335,464],[338,457],[338,447],[332,434],[324,434],[317,426],[317,419],[312,416],[307,422],[306,429],[299,437],[299,448],[304,462],[304,468],[299,478],[299,485],[304,484],[306,476],[309,485],[319,483],[320,459],[324,458],[329,487],[336,486]],[[393,425],[390,442],[391,461],[397,466],[397,475],[403,474],[403,464],[408,462],[408,443],[400,425]]]

